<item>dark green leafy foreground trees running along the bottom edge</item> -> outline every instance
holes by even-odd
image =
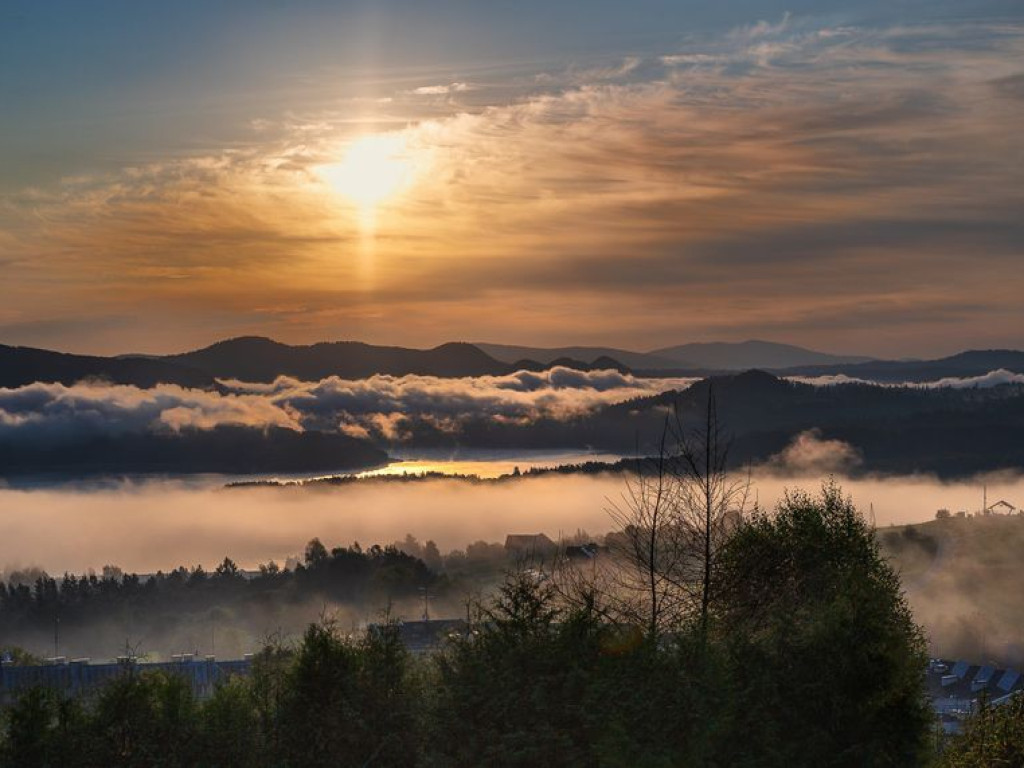
[[[932,755],[921,632],[835,487],[740,524],[717,553],[707,615],[631,623],[596,585],[566,584],[513,573],[471,632],[422,657],[387,622],[356,638],[315,624],[207,701],[147,675],[93,700],[27,693],[6,715],[5,765],[908,766]]]

